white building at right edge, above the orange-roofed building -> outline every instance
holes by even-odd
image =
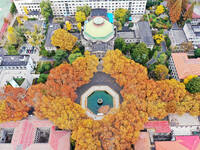
[[[194,46],[200,46],[200,24],[193,23],[186,23],[183,30],[188,41],[191,41]]]

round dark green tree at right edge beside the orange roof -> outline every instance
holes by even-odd
[[[191,79],[187,84],[186,84],[186,89],[190,93],[197,93],[200,92],[200,78],[196,77]]]

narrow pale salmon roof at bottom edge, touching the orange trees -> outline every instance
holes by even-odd
[[[150,139],[148,132],[140,132],[138,141],[134,144],[135,150],[150,150]]]

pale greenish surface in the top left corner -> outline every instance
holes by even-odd
[[[0,29],[3,25],[4,17],[7,17],[11,6],[11,0],[0,0]]]

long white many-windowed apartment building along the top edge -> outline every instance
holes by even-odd
[[[40,11],[42,0],[14,0],[19,14],[25,14],[24,7],[28,11]],[[130,10],[133,15],[145,13],[147,0],[50,0],[54,16],[74,15],[77,6],[88,5],[92,9],[105,8],[114,11],[118,8]]]

